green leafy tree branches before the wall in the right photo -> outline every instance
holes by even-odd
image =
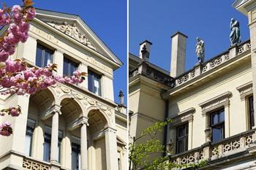
[[[163,128],[171,123],[172,120],[158,122],[144,129],[137,138],[132,137],[132,143],[129,143],[129,170],[167,170],[173,168],[199,169],[207,165],[207,161],[199,163],[174,164],[169,162],[168,156],[151,157],[154,154],[163,155],[165,146],[158,139],[157,134],[161,133]],[[140,139],[146,142],[138,142]]]

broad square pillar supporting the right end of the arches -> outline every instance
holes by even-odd
[[[105,130],[106,162],[107,170],[118,170],[116,130],[108,128]]]

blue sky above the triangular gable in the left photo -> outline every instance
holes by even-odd
[[[0,1],[1,3],[3,1]],[[5,0],[7,6],[21,0]],[[114,72],[115,101],[120,89],[127,94],[127,2],[120,0],[34,0],[34,7],[80,15],[124,65]],[[127,95],[126,95],[127,96]],[[125,100],[125,103],[127,100]]]

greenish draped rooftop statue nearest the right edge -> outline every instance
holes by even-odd
[[[232,45],[237,45],[241,42],[241,36],[240,36],[240,28],[239,28],[239,22],[238,20],[235,20],[234,18],[231,18],[230,21],[230,42]]]

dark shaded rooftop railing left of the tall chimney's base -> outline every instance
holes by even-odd
[[[129,72],[129,78],[142,74],[151,80],[160,82],[168,87],[173,87],[173,78],[157,69],[154,69],[147,61],[142,61],[138,67]]]

